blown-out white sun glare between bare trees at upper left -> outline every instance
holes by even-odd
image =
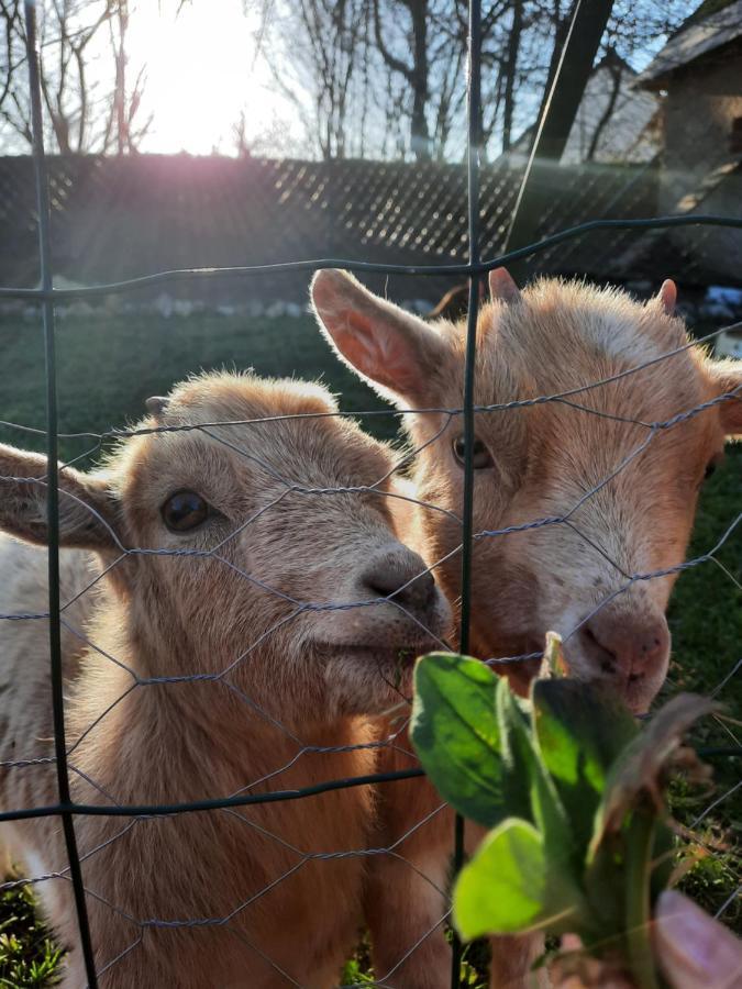
[[[177,0],[146,0],[132,10],[129,73],[146,65],[140,113],[154,114],[142,151],[234,154],[241,111],[248,138],[268,129],[280,100],[255,58],[256,5],[192,0],[176,16]]]

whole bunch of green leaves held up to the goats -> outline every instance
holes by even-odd
[[[558,671],[558,644],[547,658]],[[667,769],[706,770],[682,745],[713,705],[679,694],[640,729],[597,685],[533,681],[528,701],[465,656],[416,669],[412,742],[440,793],[490,829],[462,869],[453,921],[465,940],[541,930],[655,989],[649,921],[672,869]]]

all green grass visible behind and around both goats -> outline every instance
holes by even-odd
[[[36,320],[0,320],[0,419],[44,429],[44,354]],[[57,332],[58,404],[62,432],[103,432],[141,418],[144,400],[165,393],[175,382],[200,368],[254,367],[261,375],[321,378],[342,393],[344,410],[358,413],[387,408],[330,353],[309,318],[239,320],[203,314],[164,320],[152,315],[109,313],[100,318],[62,321]],[[369,416],[364,426],[380,438],[397,434],[394,415]],[[43,437],[0,425],[0,442],[43,448]],[[65,441],[64,457],[91,447],[88,440]],[[742,490],[742,447],[732,448],[726,463],[707,482],[701,496],[689,556],[706,553],[739,512]],[[679,689],[709,692],[742,655],[742,540],[733,536],[718,555],[728,573],[712,562],[686,571],[674,592],[669,624],[674,662],[666,694]],[[732,579],[732,577],[734,579]],[[737,587],[734,585],[737,580]],[[719,694],[724,718],[741,718],[742,676],[732,677]],[[737,744],[740,725],[707,720],[697,742],[707,747]],[[716,796],[740,778],[740,760],[713,758]],[[678,784],[673,810],[689,826],[710,803],[708,792]],[[684,888],[705,909],[716,912],[740,884],[738,854],[742,793],[723,800],[701,824],[711,847],[685,877]],[[733,900],[723,919],[742,931],[742,899]],[[476,952],[465,985],[480,981]],[[52,985],[58,956],[48,932],[35,920],[27,890],[3,893],[0,904],[0,987]],[[367,976],[364,954],[348,963],[348,981]],[[45,981],[46,980],[46,981]]]

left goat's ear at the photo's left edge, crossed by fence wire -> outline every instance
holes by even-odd
[[[29,543],[47,544],[46,457],[0,444],[0,529]],[[59,545],[111,549],[114,497],[100,477],[59,468]]]

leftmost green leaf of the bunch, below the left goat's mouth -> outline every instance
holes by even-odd
[[[431,653],[414,670],[410,736],[444,800],[485,827],[506,815],[498,678],[478,659]]]

